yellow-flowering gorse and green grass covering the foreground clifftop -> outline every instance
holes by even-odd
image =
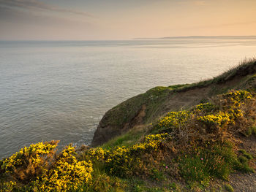
[[[23,147],[0,161],[0,191],[202,191],[217,180],[233,191],[231,173],[254,172],[255,154],[240,144],[255,137],[255,101],[252,90],[229,91],[99,147]]]

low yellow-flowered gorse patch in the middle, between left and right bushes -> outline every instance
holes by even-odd
[[[105,150],[101,147],[86,149],[81,156],[91,159],[92,162],[101,162],[105,165],[108,174],[118,177],[128,177],[141,172],[143,155],[157,154],[161,144],[168,139],[168,134],[152,134],[144,138],[143,142],[130,147],[113,147]]]

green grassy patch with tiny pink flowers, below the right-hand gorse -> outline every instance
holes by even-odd
[[[252,156],[241,150],[243,155],[236,155],[230,145],[216,145],[211,148],[196,150],[197,153],[185,153],[178,159],[181,175],[185,180],[205,182],[211,177],[228,180],[233,169],[241,172],[253,172],[248,161]]]

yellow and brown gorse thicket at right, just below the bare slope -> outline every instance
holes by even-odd
[[[155,126],[170,133],[180,145],[230,137],[227,129],[255,124],[255,99],[247,91],[233,91],[217,97],[214,104],[199,104],[192,110],[169,112]],[[237,126],[234,126],[237,125]],[[241,126],[242,125],[242,126]],[[176,142],[177,143],[177,142]]]

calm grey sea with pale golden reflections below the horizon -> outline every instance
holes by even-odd
[[[256,39],[0,42],[0,158],[33,142],[89,144],[107,110],[256,56]]]

